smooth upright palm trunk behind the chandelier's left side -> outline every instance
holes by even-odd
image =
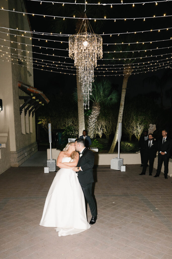
[[[83,102],[81,83],[79,82],[78,68],[76,68],[76,84],[77,84],[77,95],[78,95],[78,126],[79,126],[79,136],[81,136],[83,130],[85,129],[85,120],[84,120],[84,102]]]

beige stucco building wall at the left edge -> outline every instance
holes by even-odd
[[[6,10],[13,10],[15,8],[15,10],[26,12],[23,0],[1,0],[1,5]],[[27,15],[23,16],[19,13],[1,11],[0,23],[2,27],[30,31]],[[29,37],[25,38],[19,36],[22,35],[22,32],[19,31],[8,31],[5,28],[1,28],[1,31],[5,32],[0,33],[0,38],[3,39],[0,40],[0,46],[3,46],[0,49],[4,51],[1,53],[6,54],[8,52],[8,55],[15,60],[13,64],[8,55],[4,55],[4,61],[0,60],[0,99],[3,102],[3,111],[0,113],[0,143],[3,141],[2,135],[6,132],[8,134],[7,139],[9,140],[5,147],[6,150],[1,150],[0,165],[4,163],[6,165],[5,168],[9,168],[10,166],[19,166],[37,151],[35,116],[33,118],[30,118],[32,114],[30,117],[28,117],[28,114],[23,116],[23,109],[23,121],[21,121],[19,109],[24,100],[19,100],[19,96],[26,96],[27,94],[18,88],[18,81],[34,86],[33,66],[30,64],[32,62],[29,61],[30,58],[32,61],[32,40],[30,40],[32,34],[25,34]],[[8,32],[16,36],[7,35]],[[28,64],[23,61],[27,61]],[[23,133],[22,127],[25,129]],[[8,145],[10,150],[7,149]],[[5,158],[3,158],[2,154],[6,154]],[[3,161],[4,159],[5,161]],[[3,171],[4,169],[1,166],[0,173]]]

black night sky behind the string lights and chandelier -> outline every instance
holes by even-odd
[[[44,3],[40,4],[40,2],[34,2],[34,1],[29,1],[25,0],[26,2],[26,7],[27,7],[27,12],[29,13],[34,13],[34,14],[42,14],[42,15],[56,15],[56,16],[66,16],[66,17],[73,17],[74,14],[74,9],[75,6],[76,8],[80,8],[82,12],[84,12],[85,6],[79,6],[79,5],[69,5],[69,4],[56,4],[54,5],[52,3]],[[75,1],[71,1],[75,2]],[[78,3],[79,1],[77,1]],[[115,1],[116,3],[121,3],[121,1]],[[131,1],[123,1],[123,3],[131,3]],[[135,2],[143,2],[143,1],[135,1]],[[152,2],[152,1],[149,1]],[[82,1],[81,3],[84,3]],[[88,3],[98,3],[97,1],[88,1]],[[100,3],[114,3],[114,1],[101,1]],[[91,10],[90,10],[91,9]],[[88,10],[88,11],[87,11]],[[169,63],[171,61],[171,49],[168,48],[172,46],[170,40],[170,37],[172,36],[170,26],[172,25],[172,18],[171,17],[166,17],[168,15],[171,15],[171,10],[172,10],[172,2],[166,2],[163,1],[162,3],[157,2],[157,5],[155,3],[145,3],[143,4],[135,4],[133,7],[133,4],[129,5],[113,5],[111,8],[111,5],[109,6],[103,6],[103,5],[91,5],[91,6],[86,6],[86,14],[88,18],[116,18],[116,22],[113,20],[101,20],[101,24],[98,23],[97,21],[94,22],[94,20],[90,20],[90,24],[93,27],[93,30],[95,33],[98,34],[113,34],[113,33],[126,33],[126,32],[137,32],[141,31],[140,33],[132,33],[132,34],[124,34],[123,36],[118,36],[118,35],[103,35],[103,43],[115,43],[118,40],[123,41],[124,43],[126,42],[146,42],[148,43],[140,44],[140,47],[143,49],[155,49],[154,51],[146,51],[145,55],[147,56],[154,56],[154,55],[164,55],[164,56],[157,56],[157,57],[151,57],[151,58],[142,58],[140,62],[146,62],[153,60],[153,64],[155,63],[156,60],[160,59],[166,59],[168,57]],[[138,18],[138,17],[155,17],[157,16],[164,16],[161,18],[150,18],[146,19],[132,19],[132,20],[117,20],[118,18]],[[76,17],[77,12],[76,12]],[[36,15],[32,16],[29,15],[29,20],[31,24],[32,31],[35,30],[35,32],[44,32],[44,34],[47,33],[64,33],[64,34],[75,34],[75,26],[72,24],[73,19],[67,19],[63,20],[62,18],[59,19],[52,19],[48,17],[38,17]],[[65,27],[57,30],[56,24],[61,22],[65,23]],[[96,24],[97,23],[97,24]],[[95,26],[97,25],[97,27]],[[168,30],[161,30],[164,28],[168,28]],[[143,32],[148,30],[149,32]],[[150,30],[160,30],[159,31],[150,31]],[[68,41],[68,37],[54,37],[54,36],[45,36],[45,35],[36,35],[34,34],[34,37],[40,38],[40,41],[37,39],[32,40],[32,44],[37,45],[37,46],[45,46],[45,47],[51,47],[51,48],[59,48],[59,49],[66,49],[68,48],[67,43],[60,43],[60,42],[50,42],[49,39],[53,40],[61,40],[61,41]],[[41,40],[41,38],[47,39],[48,42],[45,42],[45,40]],[[167,40],[167,41],[163,41]],[[158,42],[152,42],[152,41],[158,41]],[[150,43],[152,42],[152,43]],[[132,45],[133,49],[135,48],[135,44]],[[103,45],[103,52],[104,51],[113,51],[114,45]],[[157,50],[158,47],[158,50]],[[163,49],[159,49],[163,48]],[[59,55],[59,56],[66,56],[65,58],[60,58],[60,57],[54,57],[54,56],[43,56],[40,54],[34,54],[34,52],[38,53],[44,53],[48,55]],[[144,56],[145,56],[144,55]],[[140,57],[140,53],[136,52],[135,56]],[[33,47],[33,57],[37,59],[46,59],[49,60],[52,63],[54,62],[66,62],[66,63],[73,63],[72,59],[68,58],[68,51],[61,51],[61,50],[52,50],[52,49],[43,49],[39,47]],[[114,54],[115,58],[115,54]],[[103,55],[104,59],[104,55]],[[164,60],[166,62],[166,60]],[[44,61],[45,62],[45,61]],[[48,61],[47,61],[48,62]],[[160,61],[163,62],[163,61]],[[158,62],[159,63],[159,62]],[[168,64],[169,64],[168,63]],[[62,63],[60,63],[62,64]],[[105,64],[104,60],[99,60],[98,64],[102,65]],[[119,64],[118,61],[116,61],[115,64]],[[63,64],[64,65],[64,64]],[[71,65],[72,66],[72,65]],[[154,65],[155,66],[155,65]],[[172,67],[172,65],[170,65]],[[34,67],[37,67],[34,65]],[[110,66],[112,67],[112,66]],[[122,66],[120,66],[122,67]],[[40,67],[41,68],[41,67]],[[45,68],[45,66],[44,66]],[[158,67],[157,67],[158,68]],[[46,69],[46,68],[45,68]],[[51,70],[51,68],[48,68]],[[68,68],[69,69],[69,68]],[[75,70],[75,68],[73,67]],[[155,68],[153,68],[155,69]],[[169,68],[167,68],[170,70]],[[138,95],[139,93],[148,93],[151,91],[158,91],[155,85],[149,85],[149,84],[143,84],[143,80],[145,77],[150,77],[152,75],[156,75],[158,77],[161,77],[165,70],[167,69],[160,69],[157,71],[153,72],[147,72],[147,73],[139,73],[139,74],[132,74],[129,77],[128,80],[128,85],[127,85],[127,95]],[[54,70],[54,69],[53,69]],[[114,72],[109,72],[104,73],[106,75],[106,78],[110,79],[113,83],[114,86],[118,85],[118,90],[121,91],[122,87],[122,80],[123,76],[119,76],[118,73],[116,73],[116,76],[110,76],[112,74],[115,74]],[[114,69],[113,69],[114,70]],[[117,70],[117,68],[116,68]],[[119,70],[119,69],[118,69]],[[61,72],[66,72],[66,73],[71,73],[69,70],[60,70],[56,69],[54,71],[61,71]],[[101,70],[102,71],[102,70]],[[102,75],[103,73],[98,73],[95,69],[95,75]],[[115,71],[115,70],[114,70]],[[143,70],[142,70],[143,71]],[[136,71],[135,71],[136,72]],[[140,72],[140,71],[137,71]],[[75,73],[75,71],[73,71]],[[107,77],[107,75],[109,75]],[[97,80],[102,80],[105,77],[99,77],[97,76]],[[76,87],[76,76],[73,75],[64,75],[64,74],[59,74],[59,73],[53,73],[53,72],[48,72],[48,71],[42,71],[42,70],[37,70],[34,69],[34,86],[38,89],[42,89],[45,93],[47,93],[50,90],[53,90],[55,93],[59,93],[60,91],[65,91],[68,93],[71,93]],[[167,84],[167,88],[171,87],[170,84]],[[169,101],[164,99],[164,106],[169,106]]]

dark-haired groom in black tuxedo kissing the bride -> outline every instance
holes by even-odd
[[[97,219],[96,205],[92,197],[94,153],[85,147],[85,142],[82,139],[77,139],[75,141],[75,148],[76,151],[80,152],[80,158],[77,166],[72,170],[78,173],[78,179],[85,197],[86,211],[88,202],[92,215],[90,225],[93,225],[96,223]]]

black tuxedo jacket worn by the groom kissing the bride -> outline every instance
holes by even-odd
[[[81,167],[82,171],[78,171],[78,179],[81,184],[89,184],[94,182],[93,168],[94,166],[94,153],[87,149],[82,152],[77,167]]]

